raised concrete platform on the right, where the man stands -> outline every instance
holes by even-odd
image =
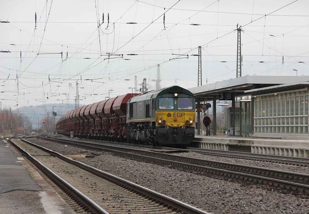
[[[309,140],[303,139],[195,135],[195,139],[190,146],[256,154],[309,157]]]

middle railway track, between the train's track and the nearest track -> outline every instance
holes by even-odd
[[[220,179],[223,178],[225,180],[244,182],[247,185],[261,184],[270,190],[277,190],[284,194],[292,193],[303,198],[309,198],[309,175],[307,174],[189,158],[160,152],[149,152],[145,150],[107,146],[68,139],[47,138],[47,140],[72,144],[74,146],[81,146],[87,149],[108,151],[117,156],[122,156],[133,160],[168,166],[206,176]]]

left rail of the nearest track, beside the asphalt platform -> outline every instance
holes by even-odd
[[[15,143],[9,139],[9,142],[24,156],[27,157],[29,161],[31,161],[34,165],[36,165],[50,180],[52,180],[61,190],[63,190],[66,194],[68,191],[70,192],[68,195],[71,197],[78,205],[80,205],[86,212],[95,213],[95,214],[109,214],[104,209],[99,207],[96,203],[94,203],[91,199],[89,199],[86,195],[81,193],[79,190],[74,188],[74,186],[70,185],[68,182],[60,178],[57,174],[51,171],[49,168],[45,167],[40,161],[36,160],[33,156],[31,156],[28,152],[24,151],[22,148],[17,146]],[[47,150],[44,150],[47,152]],[[92,211],[92,212],[91,212]]]

